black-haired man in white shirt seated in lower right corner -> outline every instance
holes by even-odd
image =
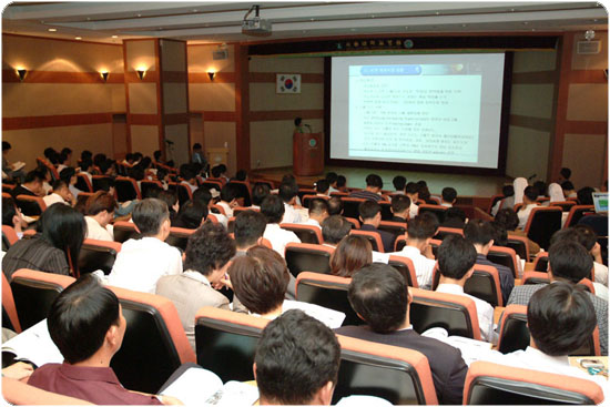
[[[590,339],[596,328],[596,312],[587,294],[571,283],[545,285],[531,295],[528,303],[529,346],[525,350],[506,355],[488,350],[481,355],[481,359],[593,380],[608,400],[608,379],[601,375],[589,375],[571,366],[568,359],[568,355],[572,355]]]

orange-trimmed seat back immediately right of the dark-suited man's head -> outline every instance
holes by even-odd
[[[434,291],[409,288],[410,323],[421,334],[434,327],[445,328],[449,335],[481,340],[477,308],[471,298]]]

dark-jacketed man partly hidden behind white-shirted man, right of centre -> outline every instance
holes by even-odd
[[[496,264],[487,260],[487,253],[494,245],[494,236],[496,231],[490,222],[482,220],[470,220],[466,226],[464,226],[464,237],[470,244],[475,246],[477,251],[477,264],[484,266],[494,266],[498,269],[498,275],[500,277],[500,289],[502,292],[502,301],[506,304],[510,292],[515,286],[515,275],[507,266],[501,264]]]

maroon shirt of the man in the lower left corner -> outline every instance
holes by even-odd
[[[34,370],[29,385],[98,405],[160,405],[156,397],[125,389],[110,367],[47,364]]]

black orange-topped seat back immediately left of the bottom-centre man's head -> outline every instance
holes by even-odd
[[[268,322],[214,307],[199,309],[195,315],[197,364],[223,381],[253,380],[256,345]]]

